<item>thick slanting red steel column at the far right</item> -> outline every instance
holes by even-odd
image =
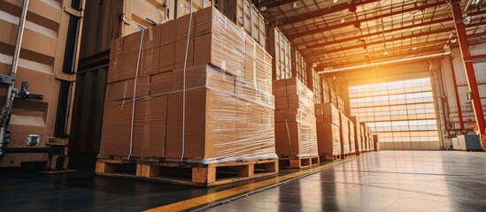
[[[474,66],[471,53],[469,52],[469,44],[467,43],[466,27],[462,19],[462,11],[460,9],[460,0],[450,0],[452,16],[456,25],[456,33],[458,34],[459,48],[464,62],[464,69],[466,70],[467,86],[472,97],[472,104],[474,110],[474,117],[479,128],[479,133],[484,134],[484,115],[482,113],[481,99],[477,88],[477,81],[474,75]]]

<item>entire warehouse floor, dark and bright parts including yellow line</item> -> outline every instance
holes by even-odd
[[[316,171],[320,172],[312,174]],[[97,177],[92,168],[56,174],[12,169],[0,173],[0,204],[5,211],[150,208],[160,211],[191,208],[479,211],[486,208],[486,154],[479,152],[382,151],[327,163],[321,168],[282,170],[277,178],[213,188]],[[307,174],[310,175],[299,178]],[[262,191],[262,187],[271,188]],[[247,196],[248,193],[254,194]]]

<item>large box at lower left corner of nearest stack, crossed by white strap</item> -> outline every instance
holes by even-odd
[[[104,103],[104,122],[99,155],[164,157],[166,146],[166,95],[135,101]],[[132,125],[132,112],[135,119]],[[130,145],[133,127],[133,140]]]

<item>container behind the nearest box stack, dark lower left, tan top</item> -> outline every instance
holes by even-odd
[[[116,0],[86,1],[81,61],[74,101],[70,155],[75,163],[94,163],[101,138],[101,117],[112,40],[133,34],[154,24],[166,23],[211,6],[209,0]],[[169,53],[169,52],[166,52]],[[160,57],[167,54],[160,54]],[[155,61],[155,60],[154,60]]]

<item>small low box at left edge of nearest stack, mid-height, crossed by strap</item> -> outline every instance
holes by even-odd
[[[141,77],[136,80],[136,97],[149,95],[149,77]],[[105,101],[132,99],[135,91],[135,79],[127,79],[106,85]]]

